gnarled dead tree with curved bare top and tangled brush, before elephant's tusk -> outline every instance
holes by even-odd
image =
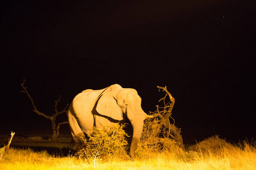
[[[145,120],[141,139],[141,150],[143,152],[180,152],[185,151],[181,131],[174,123],[171,117],[172,108],[174,107],[175,99],[168,92],[167,87],[157,86],[159,90],[166,92],[159,101],[163,101],[164,107],[156,105],[156,111],[150,112],[153,118]],[[167,100],[167,96],[170,100]]]

